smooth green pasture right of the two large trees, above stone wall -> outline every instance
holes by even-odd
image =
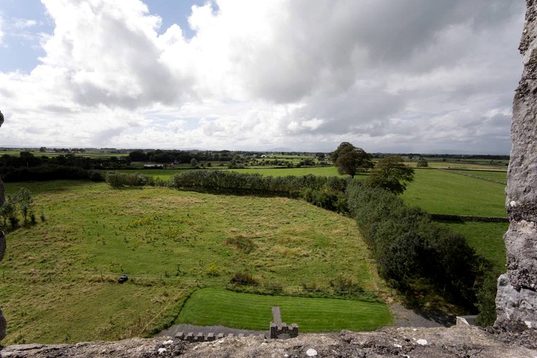
[[[504,190],[505,185],[450,171],[416,169],[401,197],[428,213],[506,217]]]

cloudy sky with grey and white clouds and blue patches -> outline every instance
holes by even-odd
[[[522,0],[0,0],[0,146],[500,153]]]

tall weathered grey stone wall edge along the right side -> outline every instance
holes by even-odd
[[[537,3],[527,0],[520,42],[524,63],[513,101],[506,209],[507,273],[498,280],[496,326],[537,327]]]

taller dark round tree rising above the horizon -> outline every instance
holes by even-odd
[[[371,155],[348,142],[338,145],[336,151],[332,153],[332,162],[338,168],[338,173],[348,174],[352,178],[359,171],[366,171],[369,168],[373,168]]]

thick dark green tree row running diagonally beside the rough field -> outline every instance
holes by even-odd
[[[471,308],[474,283],[485,259],[464,236],[433,222],[420,208],[410,208],[384,189],[351,182],[350,214],[366,237],[378,271],[391,285],[409,292],[424,282],[448,301]]]

